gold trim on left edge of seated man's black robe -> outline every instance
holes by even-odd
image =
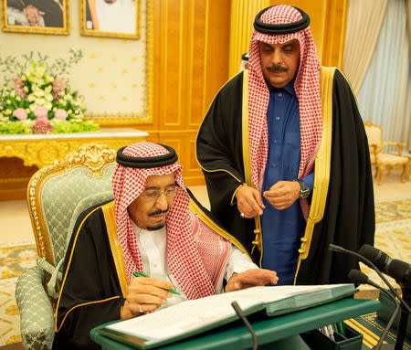
[[[124,256],[122,255],[122,249],[119,238],[117,236],[116,217],[114,214],[114,202],[110,202],[101,207],[104,214],[104,219],[107,226],[107,234],[110,240],[110,247],[112,252],[112,259],[117,270],[117,276],[119,277],[121,292],[123,298],[127,296],[127,277],[125,273]]]

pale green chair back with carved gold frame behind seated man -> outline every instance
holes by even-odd
[[[33,175],[27,201],[39,257],[56,266],[66,252],[79,203],[87,198],[88,203],[83,205],[86,209],[98,199],[112,198],[114,161],[114,150],[90,143]]]

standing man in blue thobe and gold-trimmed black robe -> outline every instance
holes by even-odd
[[[374,243],[364,125],[339,69],[320,68],[310,17],[289,5],[256,16],[248,70],[218,92],[196,153],[211,211],[279,284],[348,281]]]

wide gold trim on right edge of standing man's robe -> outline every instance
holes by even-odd
[[[307,259],[308,257],[314,226],[322,219],[327,201],[332,152],[332,83],[335,69],[335,67],[321,67],[321,145],[317,155],[315,156],[315,175],[311,209],[307,220],[304,237],[301,238],[301,247],[299,249],[300,256],[297,262],[294,283],[300,270],[301,260]]]

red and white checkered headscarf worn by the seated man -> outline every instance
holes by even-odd
[[[169,151],[160,144],[142,142],[133,143],[122,153],[151,157]],[[174,206],[166,219],[168,266],[187,298],[197,299],[216,293],[216,281],[225,270],[230,244],[189,210],[190,196],[184,186],[182,169],[183,166],[177,163],[142,169],[117,165],[112,179],[117,234],[130,282],[132,272],[142,270],[142,258],[127,207],[142,194],[148,176],[174,173],[175,182],[181,189],[177,191]]]

